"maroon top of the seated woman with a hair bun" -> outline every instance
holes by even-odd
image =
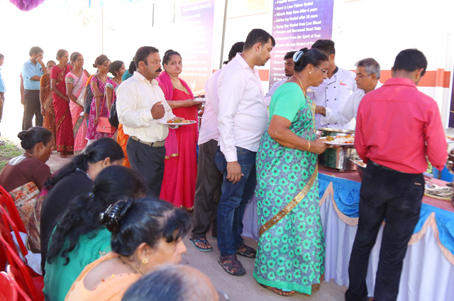
[[[0,174],[0,185],[6,191],[12,191],[28,182],[35,183],[39,190],[44,181],[50,177],[50,167],[43,161],[35,159],[31,154],[22,154],[11,159]]]

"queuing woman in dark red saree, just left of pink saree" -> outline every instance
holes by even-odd
[[[68,52],[58,50],[59,64],[50,71],[50,89],[52,89],[53,105],[55,110],[55,130],[57,137],[55,149],[60,157],[66,158],[67,152],[74,151],[74,135],[72,134],[72,119],[70,113],[70,98],[66,95],[65,76],[71,71],[68,64]]]

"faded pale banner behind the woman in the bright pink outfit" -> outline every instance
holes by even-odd
[[[211,76],[214,0],[182,4],[181,20],[181,47],[177,50],[183,60],[180,76],[197,96],[204,93],[205,83]]]

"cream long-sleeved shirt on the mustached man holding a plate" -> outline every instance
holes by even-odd
[[[151,108],[159,101],[165,108],[164,117],[153,119]],[[169,135],[169,127],[160,125],[175,117],[165,101],[164,92],[157,84],[135,71],[133,76],[116,89],[116,111],[118,121],[123,125],[123,132],[145,142],[161,142]]]

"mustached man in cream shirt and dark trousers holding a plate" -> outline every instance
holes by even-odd
[[[155,79],[162,71],[158,50],[140,47],[134,61],[137,71],[116,91],[118,120],[129,135],[126,151],[131,168],[145,180],[147,195],[159,198],[164,176],[164,143],[169,134],[165,123],[177,117]]]

